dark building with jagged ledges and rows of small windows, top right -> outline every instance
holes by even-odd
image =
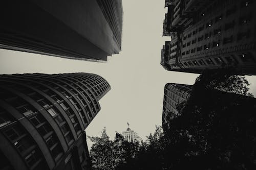
[[[169,0],[164,21],[161,65],[193,72],[234,66],[241,75],[256,75],[256,3],[251,0]]]

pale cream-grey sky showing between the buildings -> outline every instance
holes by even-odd
[[[41,72],[58,74],[91,72],[102,76],[111,90],[99,101],[101,110],[86,129],[89,136],[106,132],[114,139],[116,131],[130,128],[145,140],[162,125],[163,92],[166,83],[193,85],[197,74],[167,71],[160,65],[164,0],[123,0],[122,51],[108,57],[107,63],[0,49],[0,74]],[[256,76],[246,76],[250,92],[256,96]],[[92,142],[88,139],[88,146]]]

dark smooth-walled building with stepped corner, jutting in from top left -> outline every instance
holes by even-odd
[[[1,48],[89,61],[121,50],[121,0],[5,1],[0,15]]]

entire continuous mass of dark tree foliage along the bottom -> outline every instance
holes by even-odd
[[[177,107],[179,115],[163,125],[164,132],[157,126],[141,144],[124,141],[118,133],[114,141],[103,134],[95,138],[93,163],[105,165],[95,168],[256,169],[256,99],[248,85],[230,68],[204,71],[189,100]]]

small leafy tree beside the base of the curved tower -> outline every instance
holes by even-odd
[[[110,140],[105,128],[101,137],[88,137],[94,142],[90,151],[94,169],[120,169],[123,164],[131,165],[139,149],[139,142],[128,142],[118,132],[114,141]]]

